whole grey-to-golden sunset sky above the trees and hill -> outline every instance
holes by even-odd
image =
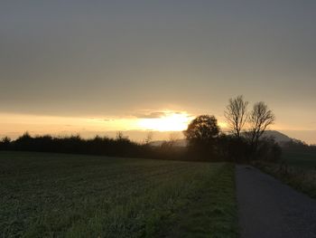
[[[316,144],[316,2],[160,0],[0,4],[0,136],[168,137],[228,99],[274,110]],[[181,133],[179,133],[181,137]]]

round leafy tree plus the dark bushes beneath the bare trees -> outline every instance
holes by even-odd
[[[282,156],[282,148],[274,138],[259,138],[254,145],[250,134],[237,137],[220,132],[214,116],[194,119],[184,133],[189,141],[187,156],[195,159],[249,163],[254,160],[274,162]]]

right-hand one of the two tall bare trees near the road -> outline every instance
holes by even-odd
[[[265,129],[274,124],[275,116],[271,109],[263,101],[254,105],[249,117],[249,138],[250,143],[256,149],[259,138],[264,134]]]

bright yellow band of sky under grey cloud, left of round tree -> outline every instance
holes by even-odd
[[[155,139],[167,139],[168,132],[181,132],[195,117],[187,111],[144,110],[137,116],[54,117],[45,115],[12,114],[0,112],[0,138],[17,138],[25,131],[31,135],[70,136],[79,134],[83,138],[96,135],[115,137],[117,131],[142,140],[148,131],[157,132]],[[225,122],[218,121],[225,129]],[[180,133],[182,135],[182,133]]]

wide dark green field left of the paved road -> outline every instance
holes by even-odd
[[[237,237],[233,165],[0,152],[0,237]]]

